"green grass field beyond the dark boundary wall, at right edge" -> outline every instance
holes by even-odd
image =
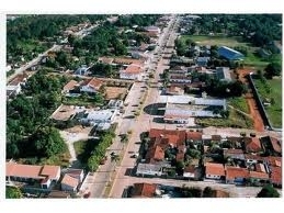
[[[263,82],[259,79],[253,79],[261,99],[274,99],[274,104],[265,108],[269,119],[274,127],[282,127],[282,79],[268,80],[271,88],[265,89]]]

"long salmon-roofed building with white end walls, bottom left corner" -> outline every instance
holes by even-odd
[[[5,180],[8,182],[37,182],[42,189],[49,189],[52,182],[58,181],[59,178],[59,166],[21,165],[12,161],[5,164]]]

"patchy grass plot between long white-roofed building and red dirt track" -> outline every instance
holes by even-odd
[[[245,116],[234,109],[228,110],[228,119],[196,119],[195,122],[202,126],[253,128],[253,122],[250,117]]]

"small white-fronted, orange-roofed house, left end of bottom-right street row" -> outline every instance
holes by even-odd
[[[225,168],[223,164],[206,162],[205,178],[213,180],[220,180],[225,178]]]

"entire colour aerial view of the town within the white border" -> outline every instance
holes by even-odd
[[[281,198],[282,14],[8,14],[7,199]]]

